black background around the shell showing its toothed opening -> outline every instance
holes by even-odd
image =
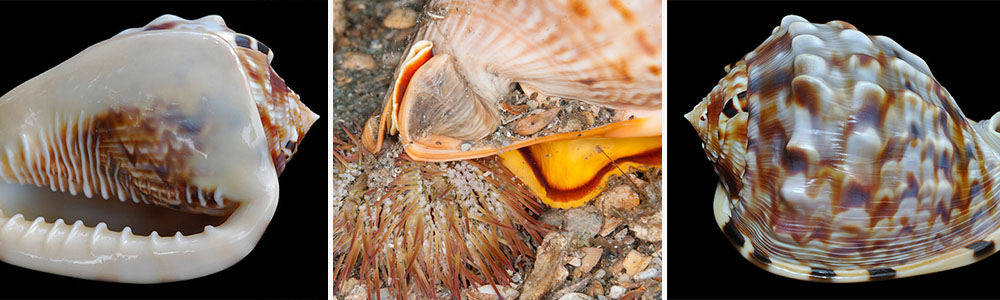
[[[221,15],[275,52],[272,66],[321,118],[280,177],[274,218],[254,250],[222,272],[135,285],[0,263],[0,298],[326,298],[328,6],[318,2],[0,2],[0,94],[126,28],[170,13]]]

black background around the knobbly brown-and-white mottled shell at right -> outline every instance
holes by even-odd
[[[788,14],[842,20],[892,38],[923,58],[965,115],[1000,111],[996,41],[1000,3],[668,2],[667,295],[672,298],[996,298],[1000,257],[917,277],[855,284],[787,279],[746,261],[715,223],[718,176],[683,118]]]

